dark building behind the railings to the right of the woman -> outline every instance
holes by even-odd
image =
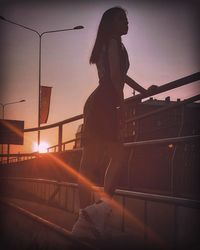
[[[180,99],[177,99],[180,102]],[[134,104],[129,102],[126,119],[147,114],[175,104],[170,97],[165,100],[150,98]],[[127,123],[126,141],[141,141],[200,134],[200,104],[192,103],[147,116]]]

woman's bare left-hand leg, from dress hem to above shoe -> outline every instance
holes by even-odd
[[[88,179],[94,181],[98,173],[100,161],[103,157],[103,149],[97,143],[91,143],[84,147],[81,159],[80,174]],[[85,208],[91,204],[91,186],[79,179],[79,197],[80,197],[80,208]]]

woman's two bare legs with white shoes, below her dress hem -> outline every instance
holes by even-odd
[[[72,233],[75,235],[81,235],[81,233],[83,232],[80,232],[79,229],[82,227],[82,225],[88,224],[87,220],[85,220],[84,217],[85,213],[93,222],[92,226],[102,236],[104,235],[106,227],[109,224],[109,217],[112,212],[111,198],[118,184],[120,172],[122,169],[123,145],[119,143],[113,143],[112,145],[109,145],[109,148],[107,147],[107,144],[105,146],[106,147],[104,147],[104,149],[108,150],[109,155],[112,157],[104,178],[105,195],[100,194],[101,199],[99,200],[99,202],[93,203],[91,206],[88,206],[91,202],[90,192],[88,188],[80,185],[79,190],[81,197],[81,207],[84,209],[81,210],[79,220],[73,227]],[[81,164],[81,172],[84,175],[89,175],[91,177],[90,173],[94,173],[94,166],[98,166],[99,156],[102,155],[102,153],[99,154],[99,152],[101,152],[101,149],[99,148],[99,146],[94,147],[94,145],[92,145],[92,147],[85,148]]]

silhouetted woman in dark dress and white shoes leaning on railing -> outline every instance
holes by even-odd
[[[128,32],[128,20],[121,7],[108,9],[99,24],[90,63],[96,64],[99,85],[90,95],[84,107],[84,148],[80,173],[93,180],[103,152],[107,152],[110,163],[104,177],[104,193],[100,202],[90,205],[88,187],[79,183],[79,219],[72,233],[79,230],[87,220],[93,223],[96,233],[103,234],[104,219],[110,214],[110,200],[116,189],[122,169],[124,129],[124,84],[140,93],[146,90],[127,76],[129,59],[121,42],[121,36]]]

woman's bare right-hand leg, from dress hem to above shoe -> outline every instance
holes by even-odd
[[[123,143],[109,145],[110,164],[105,173],[104,192],[112,198],[117,188],[118,181],[123,169],[124,147]]]

